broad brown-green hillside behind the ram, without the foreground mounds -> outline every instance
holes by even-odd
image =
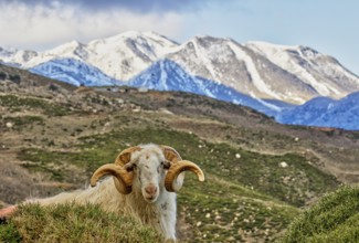
[[[4,203],[85,188],[124,148],[157,142],[207,176],[199,183],[188,173],[178,193],[180,239],[275,241],[303,207],[358,178],[359,133],[283,126],[192,94],[76,88],[7,66],[0,72]]]

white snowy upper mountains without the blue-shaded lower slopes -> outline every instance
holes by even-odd
[[[334,57],[304,46],[241,44],[212,36],[196,36],[178,44],[154,32],[130,31],[87,44],[72,41],[44,52],[0,49],[0,62],[23,68],[56,59],[81,61],[119,81],[129,81],[158,60],[167,59],[192,76],[214,81],[254,98],[293,104],[317,96],[341,98],[359,91],[357,75]],[[76,77],[67,80],[72,78]]]

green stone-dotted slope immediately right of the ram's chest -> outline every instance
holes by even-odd
[[[193,225],[190,242],[274,241],[297,213],[273,198],[211,176],[202,184],[188,175],[178,201]]]

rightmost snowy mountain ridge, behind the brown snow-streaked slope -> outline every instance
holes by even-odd
[[[246,46],[305,81],[320,96],[339,98],[344,93],[358,89],[357,75],[341,66],[334,57],[310,47],[291,47],[264,42],[252,42]]]

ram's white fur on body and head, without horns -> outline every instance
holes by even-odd
[[[94,188],[63,192],[52,198],[28,202],[39,202],[42,205],[66,202],[96,203],[105,211],[131,215],[139,222],[157,229],[166,239],[176,240],[176,193],[165,189],[163,178],[167,171],[160,167],[160,162],[165,160],[162,150],[156,145],[141,145],[140,147],[142,149],[131,156],[130,163],[136,163],[137,170],[134,171],[133,192],[129,194],[119,193],[113,178],[107,177]],[[141,171],[140,179],[139,170]],[[181,180],[177,181],[181,184],[183,177],[179,177],[178,180]],[[158,196],[154,201],[144,198],[146,196],[144,188],[149,183],[158,187]]]

